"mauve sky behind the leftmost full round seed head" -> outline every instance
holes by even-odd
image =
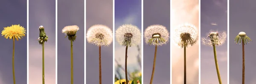
[[[95,24],[113,29],[113,0],[86,0],[86,32]],[[99,84],[99,47],[86,42],[86,84]],[[113,84],[113,44],[101,47],[102,83]]]

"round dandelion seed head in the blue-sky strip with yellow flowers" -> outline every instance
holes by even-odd
[[[136,46],[141,42],[141,32],[137,26],[124,24],[116,30],[116,41],[122,46]]]

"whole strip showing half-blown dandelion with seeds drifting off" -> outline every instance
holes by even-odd
[[[201,84],[227,84],[227,0],[201,0]]]

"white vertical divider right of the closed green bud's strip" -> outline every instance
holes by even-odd
[[[58,84],[58,0],[55,0],[55,84]]]

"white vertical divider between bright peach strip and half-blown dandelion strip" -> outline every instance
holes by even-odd
[[[198,27],[198,38],[199,38],[199,41],[198,41],[198,45],[199,45],[199,47],[198,47],[198,51],[199,51],[199,53],[198,53],[198,55],[199,55],[199,57],[198,57],[198,73],[199,73],[199,75],[198,75],[198,83],[199,84],[201,84],[201,0],[198,0],[198,17],[199,17],[199,27]]]

